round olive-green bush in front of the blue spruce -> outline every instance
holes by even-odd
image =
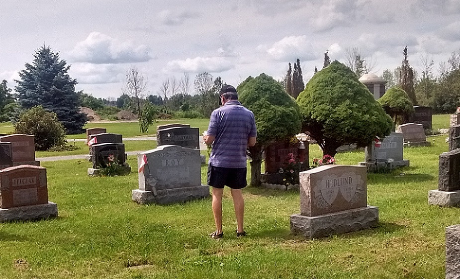
[[[41,105],[34,106],[19,116],[14,133],[35,136],[35,150],[48,150],[65,146],[64,126],[56,113],[46,111]]]

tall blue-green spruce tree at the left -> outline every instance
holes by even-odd
[[[77,80],[67,71],[70,66],[48,46],[42,46],[34,55],[32,64],[26,63],[15,80],[18,102],[22,108],[41,104],[43,108],[58,115],[67,133],[81,133],[87,118],[79,112],[79,98],[75,92]]]

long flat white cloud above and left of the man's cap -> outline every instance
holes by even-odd
[[[172,72],[211,72],[221,73],[232,69],[233,64],[223,57],[195,57],[185,60],[173,60],[166,65],[167,71]]]

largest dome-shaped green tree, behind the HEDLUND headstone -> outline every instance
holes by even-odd
[[[342,145],[365,147],[375,136],[389,135],[393,121],[347,66],[334,61],[316,73],[297,97],[302,131],[323,155],[334,156]]]

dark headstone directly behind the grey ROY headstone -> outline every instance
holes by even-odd
[[[179,145],[182,147],[199,149],[199,139],[198,128],[175,126],[157,130],[157,146]]]

